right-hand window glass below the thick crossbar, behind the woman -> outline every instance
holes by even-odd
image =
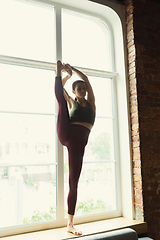
[[[117,210],[112,82],[108,78],[89,76],[89,79],[96,96],[97,118],[85,149],[76,216]],[[67,90],[70,89],[70,84],[66,86]],[[68,155],[64,148],[65,216],[67,216],[68,173]]]

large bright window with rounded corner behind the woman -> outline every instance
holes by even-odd
[[[0,30],[0,228],[65,224],[68,156],[56,134],[57,59],[83,71],[96,96],[75,221],[120,216],[110,26],[93,13],[53,1],[5,0],[0,2]],[[66,84],[70,95],[75,79]]]

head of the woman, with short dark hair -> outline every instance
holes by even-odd
[[[72,92],[76,97],[84,98],[86,95],[86,84],[82,80],[77,80],[72,84]]]

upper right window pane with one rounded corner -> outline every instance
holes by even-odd
[[[98,19],[63,10],[63,61],[74,66],[111,70],[108,29]]]

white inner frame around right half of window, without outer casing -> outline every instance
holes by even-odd
[[[104,21],[104,19],[100,18],[99,15],[97,14],[93,14],[92,12],[88,12],[88,11],[85,11],[85,10],[82,10],[82,9],[77,9],[77,8],[74,8],[74,7],[70,7],[70,6],[66,6],[66,5],[59,5],[59,4],[55,4],[55,16],[56,16],[56,23],[58,22],[58,33],[56,32],[56,49],[57,49],[57,56],[56,56],[56,59],[62,59],[62,35],[61,35],[61,32],[60,29],[61,29],[61,20],[62,20],[62,17],[61,17],[61,9],[67,9],[67,10],[71,10],[71,11],[74,11],[74,12],[77,12],[77,13],[80,13],[80,14],[85,14],[85,15],[88,15],[89,17],[91,18],[97,18],[101,21],[103,21],[103,23],[106,25],[106,27],[108,28],[109,30],[109,36],[110,36],[110,46],[111,46],[111,52],[113,53],[112,54],[112,69],[115,69],[115,66],[114,66],[114,51],[113,51],[113,35],[112,35],[112,31],[110,29],[110,27],[107,25],[107,21]],[[56,28],[57,29],[57,28]],[[106,78],[112,78],[112,90],[114,89],[114,93],[113,93],[113,104],[116,105],[116,88],[115,88],[115,82],[116,82],[116,76],[117,76],[117,73],[112,71],[112,72],[109,72],[109,71],[103,71],[103,70],[95,70],[95,69],[89,69],[89,68],[84,68],[84,67],[79,67],[79,66],[75,66],[76,68],[78,68],[80,71],[84,72],[86,75],[90,75],[90,76],[96,76],[96,77],[106,77]],[[117,119],[116,119],[116,112],[115,112],[115,108],[113,110],[113,115],[115,116],[114,119],[115,119],[115,124],[114,126],[117,126]],[[115,127],[116,130],[118,130],[117,127]],[[115,135],[114,135],[115,137]],[[116,139],[115,141],[115,145],[116,145],[116,155],[118,156],[118,139]],[[64,162],[63,162],[63,146],[58,142],[58,145],[57,145],[57,152],[58,152],[58,171],[57,171],[57,176],[58,176],[58,183],[60,184],[58,186],[58,189],[60,189],[61,191],[58,192],[57,196],[58,196],[58,212],[59,212],[59,218],[58,218],[58,221],[60,221],[63,225],[62,226],[65,226],[66,225],[66,220],[64,221],[64,175],[62,176],[61,175],[61,169],[64,169]],[[118,158],[118,157],[117,157]],[[116,164],[118,165],[118,161],[119,159],[117,159],[117,162]],[[118,168],[118,167],[117,167]],[[120,180],[120,177],[119,177],[119,174],[118,172],[117,173],[117,178],[118,180]],[[120,181],[117,180],[117,183],[119,183]],[[97,221],[97,220],[102,220],[102,219],[106,219],[106,218],[113,218],[113,217],[119,217],[121,216],[121,199],[120,199],[120,184],[117,184],[117,195],[119,197],[119,199],[117,199],[117,203],[118,203],[118,211],[114,211],[114,212],[110,212],[110,213],[101,213],[101,214],[95,214],[95,215],[89,215],[89,216],[83,216],[83,217],[77,217],[75,218],[74,222],[75,224],[80,224],[80,223],[84,223],[84,222],[90,222],[90,221]],[[120,204],[119,204],[120,203]]]

